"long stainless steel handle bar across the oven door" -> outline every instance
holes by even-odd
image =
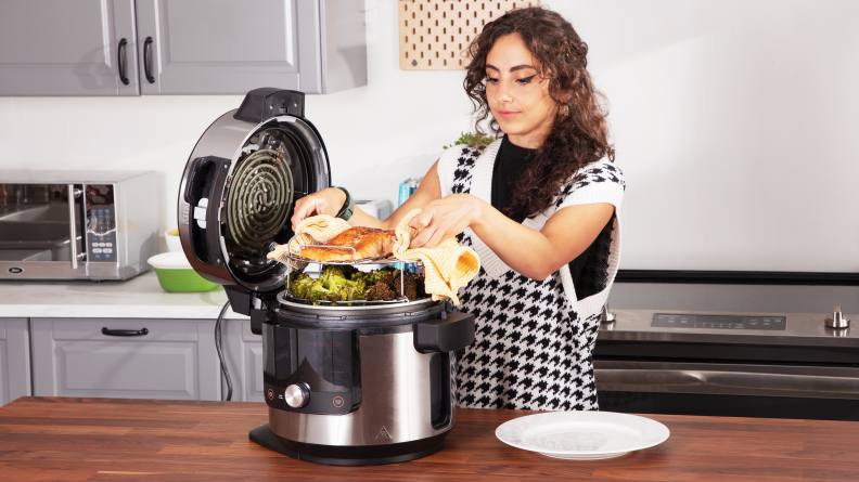
[[[697,369],[597,369],[601,386],[693,387],[709,386],[773,392],[809,392],[859,395],[859,379],[821,375],[793,375]]]

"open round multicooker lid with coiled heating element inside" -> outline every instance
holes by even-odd
[[[179,236],[206,279],[253,292],[283,289],[286,266],[266,258],[293,235],[295,200],[331,185],[304,93],[257,89],[197,141],[179,188]]]

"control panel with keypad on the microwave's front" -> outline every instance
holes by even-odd
[[[114,186],[87,184],[87,260],[116,262],[116,209]]]

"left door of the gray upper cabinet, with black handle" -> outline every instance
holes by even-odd
[[[0,0],[0,95],[139,95],[136,42],[133,0]]]

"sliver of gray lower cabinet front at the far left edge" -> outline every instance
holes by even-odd
[[[0,318],[0,405],[29,394],[27,318]]]

